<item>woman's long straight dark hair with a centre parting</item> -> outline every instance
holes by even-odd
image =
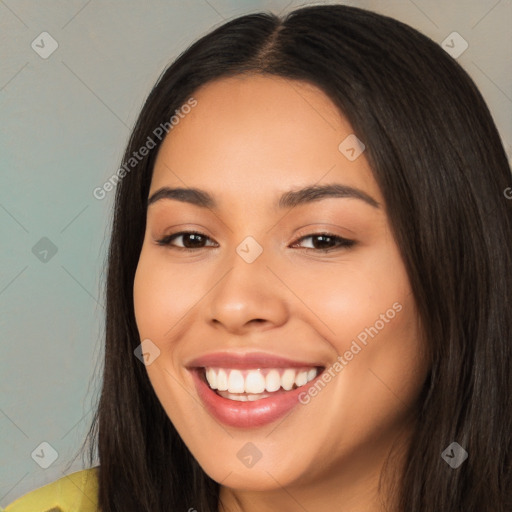
[[[246,15],[199,39],[162,74],[123,161],[198,87],[242,73],[318,86],[366,144],[431,360],[400,512],[512,510],[512,180],[474,83],[432,40],[363,9]],[[116,190],[90,460],[97,447],[103,512],[217,512],[219,484],[184,445],[134,356],[133,282],[159,145]],[[454,441],[468,452],[458,469],[441,457]]]

